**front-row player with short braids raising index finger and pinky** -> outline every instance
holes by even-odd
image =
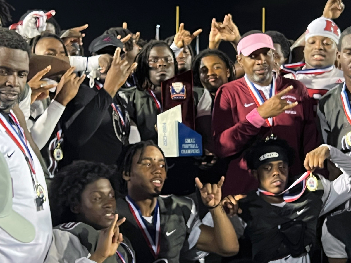
[[[210,210],[210,227],[199,220],[191,198],[160,196],[167,165],[156,144],[146,141],[129,147],[120,166],[127,195],[118,198],[117,207],[119,215],[126,217],[121,231],[135,249],[136,262],[186,262],[207,254],[203,251],[235,255],[239,249],[236,232],[219,205],[224,177],[216,184],[195,180]]]

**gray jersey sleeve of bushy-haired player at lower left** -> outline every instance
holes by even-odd
[[[67,231],[53,229],[53,240],[44,263],[95,263],[79,238]]]

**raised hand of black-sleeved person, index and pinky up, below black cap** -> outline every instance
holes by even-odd
[[[114,97],[118,89],[126,82],[128,76],[137,67],[137,63],[132,65],[127,59],[120,58],[121,49],[118,47],[113,55],[111,67],[107,72],[104,89],[111,97]]]

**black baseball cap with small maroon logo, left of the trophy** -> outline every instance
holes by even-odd
[[[90,53],[96,54],[114,54],[116,48],[121,48],[121,54],[123,51],[123,43],[113,35],[101,35],[95,38],[89,45]],[[112,54],[111,54],[112,53]]]

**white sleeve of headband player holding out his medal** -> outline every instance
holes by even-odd
[[[338,207],[351,197],[351,177],[349,175],[351,172],[351,156],[343,154],[330,145],[322,144],[321,146],[329,147],[330,160],[340,168],[343,174],[332,182],[326,180],[323,176],[319,176],[324,188],[322,196],[323,206],[320,216]]]

